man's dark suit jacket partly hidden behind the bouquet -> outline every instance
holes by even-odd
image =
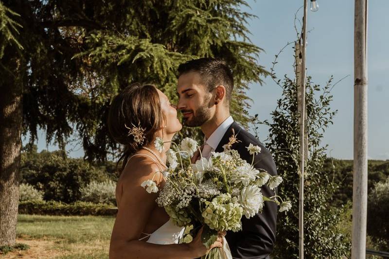
[[[264,144],[246,130],[242,129],[236,122],[231,124],[215,151],[223,151],[223,145],[227,144],[229,138],[232,136],[232,129],[234,129],[237,139],[241,141],[233,144],[232,149],[237,150],[242,159],[251,163],[252,155],[248,153],[246,147],[250,143],[260,146],[261,153],[255,155],[254,167],[256,169],[264,169],[271,175],[277,175],[276,164]],[[261,190],[266,197],[274,195],[274,191],[270,190],[267,186],[263,186]],[[265,202],[262,213],[258,213],[249,219],[243,216],[242,231],[229,231],[226,235],[232,257],[236,259],[261,259],[269,256],[273,251],[276,241],[276,221],[277,205],[267,201]]]

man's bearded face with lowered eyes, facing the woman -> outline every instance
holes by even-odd
[[[189,127],[198,127],[210,120],[212,94],[204,86],[197,72],[188,72],[178,78],[178,109],[182,112],[183,123]]]

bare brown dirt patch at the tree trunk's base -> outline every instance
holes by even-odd
[[[31,259],[48,259],[57,256],[65,255],[64,251],[54,249],[54,241],[52,240],[25,240],[17,239],[17,243],[28,244],[30,249],[21,251],[15,250],[6,255],[0,255],[1,259],[16,259],[16,258],[31,258]]]

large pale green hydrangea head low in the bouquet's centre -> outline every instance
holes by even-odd
[[[205,209],[202,212],[204,223],[211,229],[217,231],[232,230],[234,232],[241,230],[241,218],[243,208],[238,201],[231,198],[230,193],[220,194],[212,199],[212,202],[205,202]]]

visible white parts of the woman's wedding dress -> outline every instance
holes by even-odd
[[[136,155],[146,155],[146,154],[136,154]],[[134,156],[134,155],[133,155]],[[131,156],[128,161],[133,157]],[[150,156],[151,159],[155,161],[155,159]],[[157,161],[155,161],[157,162]],[[161,225],[156,231],[151,234],[142,233],[146,236],[142,237],[139,240],[144,240],[148,238],[146,242],[154,243],[154,244],[177,244],[179,240],[183,237],[185,228],[179,227],[173,224],[172,220],[169,220],[165,224]],[[219,249],[219,255],[221,259],[232,259],[230,247],[226,241],[226,238],[223,238],[223,249]]]

